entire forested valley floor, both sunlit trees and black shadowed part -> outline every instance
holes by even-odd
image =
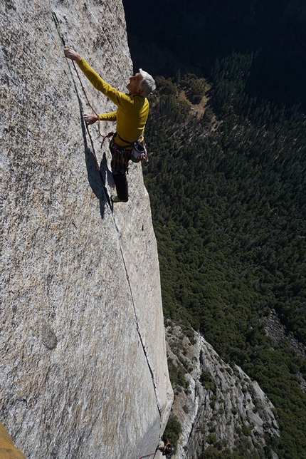
[[[306,6],[123,3],[134,68],[159,75],[143,172],[165,321],[258,381],[280,427],[251,456],[211,445],[203,458],[305,459],[306,362],[263,319],[276,311],[306,346]]]

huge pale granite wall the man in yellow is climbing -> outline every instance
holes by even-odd
[[[27,459],[139,458],[172,406],[149,197],[132,165],[112,212],[108,141],[52,11],[106,81],[132,73],[121,1],[1,1],[0,419]]]

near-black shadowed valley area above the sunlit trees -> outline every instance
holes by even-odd
[[[248,93],[306,109],[304,0],[123,0],[134,69],[210,78],[216,58],[254,53]]]

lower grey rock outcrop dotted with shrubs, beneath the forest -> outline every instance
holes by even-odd
[[[203,336],[195,333],[191,341],[181,339],[178,326],[167,332],[169,359],[186,369],[188,386],[174,389],[172,411],[182,428],[176,458],[199,458],[209,445],[232,450],[241,440],[250,451],[263,449],[266,438],[279,435],[273,404],[241,368],[228,367]]]

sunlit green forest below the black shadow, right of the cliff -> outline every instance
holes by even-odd
[[[274,309],[306,344],[306,120],[248,97],[252,58],[217,61],[211,85],[193,74],[157,78],[144,178],[165,317],[201,331],[258,381],[279,417],[270,446],[305,458],[306,362],[287,341],[273,344],[261,319]],[[196,113],[191,101],[204,93]]]

